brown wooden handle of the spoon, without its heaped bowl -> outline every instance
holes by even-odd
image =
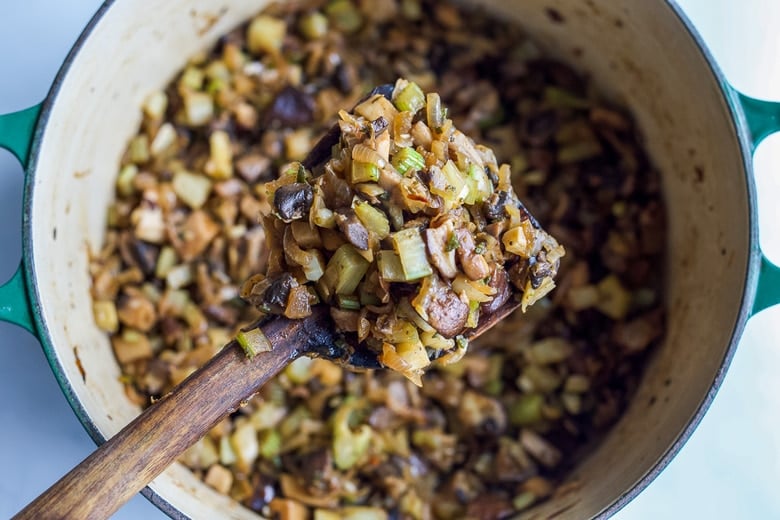
[[[14,518],[108,518],[269,378],[332,342],[322,318],[269,320],[261,328],[274,348],[251,360],[232,341]]]

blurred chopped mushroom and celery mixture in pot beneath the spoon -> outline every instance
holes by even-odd
[[[239,291],[266,268],[262,186],[374,85],[439,92],[567,252],[553,293],[422,388],[296,361],[182,457],[208,485],[282,518],[504,518],[551,496],[620,416],[664,331],[659,179],[630,117],[521,34],[445,2],[289,2],[149,95],[90,266],[142,406],[258,318]],[[342,227],[362,243],[351,214]]]

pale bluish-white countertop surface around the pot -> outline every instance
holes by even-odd
[[[679,0],[727,78],[780,100],[780,2]],[[0,6],[0,113],[46,95],[99,0],[25,0]],[[774,170],[774,171],[772,171]],[[780,260],[780,135],[756,154],[762,241]],[[0,279],[21,254],[22,171],[0,150]],[[776,225],[775,225],[776,227]],[[669,467],[616,518],[780,518],[780,308],[748,324],[714,404]],[[88,455],[94,444],[63,397],[38,342],[0,323],[0,518],[7,518]],[[114,518],[167,518],[141,496]]]

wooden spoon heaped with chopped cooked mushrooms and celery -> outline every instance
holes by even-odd
[[[403,79],[341,111],[266,191],[266,269],[241,291],[264,317],[17,518],[108,517],[300,356],[422,385],[546,295],[564,254],[509,166]]]

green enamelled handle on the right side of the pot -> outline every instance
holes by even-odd
[[[755,152],[761,141],[774,132],[780,132],[780,103],[752,98],[741,92],[737,92],[737,98],[750,130],[752,151]],[[780,303],[780,267],[762,254],[751,314],[756,314],[776,303]]]

